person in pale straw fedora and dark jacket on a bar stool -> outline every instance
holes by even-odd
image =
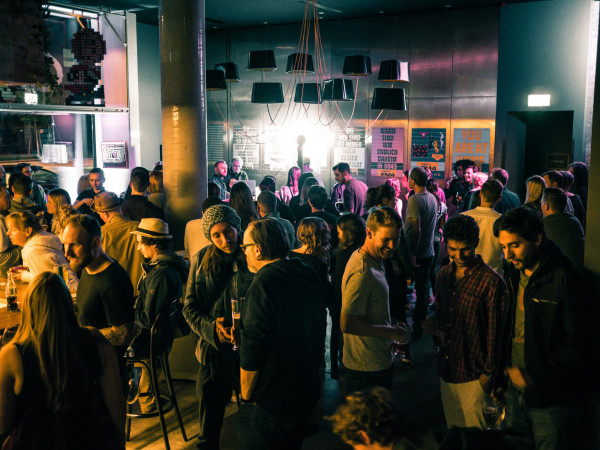
[[[137,246],[142,256],[149,261],[142,264],[143,275],[139,283],[139,295],[135,302],[135,330],[131,347],[136,356],[148,353],[150,330],[154,321],[163,314],[171,316],[183,293],[183,283],[187,281],[187,266],[183,258],[171,251],[173,236],[169,226],[160,219],[142,219],[131,234],[137,238]],[[170,323],[170,322],[167,322]],[[172,337],[172,329],[167,339]],[[169,345],[169,343],[165,343]],[[144,414],[156,411],[157,406],[150,388],[150,377],[142,367],[139,384],[140,410]]]

